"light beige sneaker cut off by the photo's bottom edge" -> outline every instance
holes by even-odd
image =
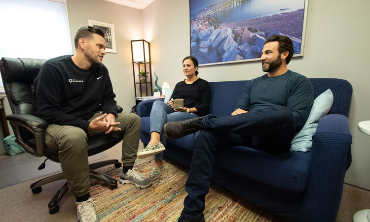
[[[78,222],[100,222],[94,208],[96,200],[97,198],[90,197],[86,201],[76,202]]]

